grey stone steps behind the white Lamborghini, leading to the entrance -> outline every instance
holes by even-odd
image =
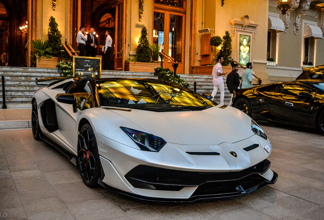
[[[0,67],[0,76],[5,77],[6,105],[7,108],[31,108],[34,92],[44,86],[35,83],[36,78],[63,76],[57,68],[31,68],[31,67]],[[129,77],[157,79],[154,73],[129,72],[129,71],[105,71],[101,72],[102,78]],[[180,77],[188,82],[190,89],[194,90],[194,82],[197,83],[197,93],[211,94],[213,90],[211,75],[180,74]],[[224,81],[226,77],[224,77]],[[46,82],[47,84],[48,82]],[[2,87],[0,86],[0,108],[3,106]],[[230,101],[231,94],[225,85],[225,104]],[[218,91],[215,101],[220,101]]]

